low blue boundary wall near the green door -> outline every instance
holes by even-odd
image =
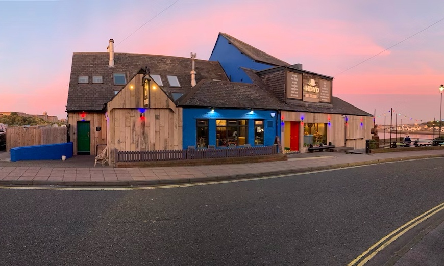
[[[11,149],[11,162],[21,160],[61,160],[72,157],[72,142],[17,147]]]

